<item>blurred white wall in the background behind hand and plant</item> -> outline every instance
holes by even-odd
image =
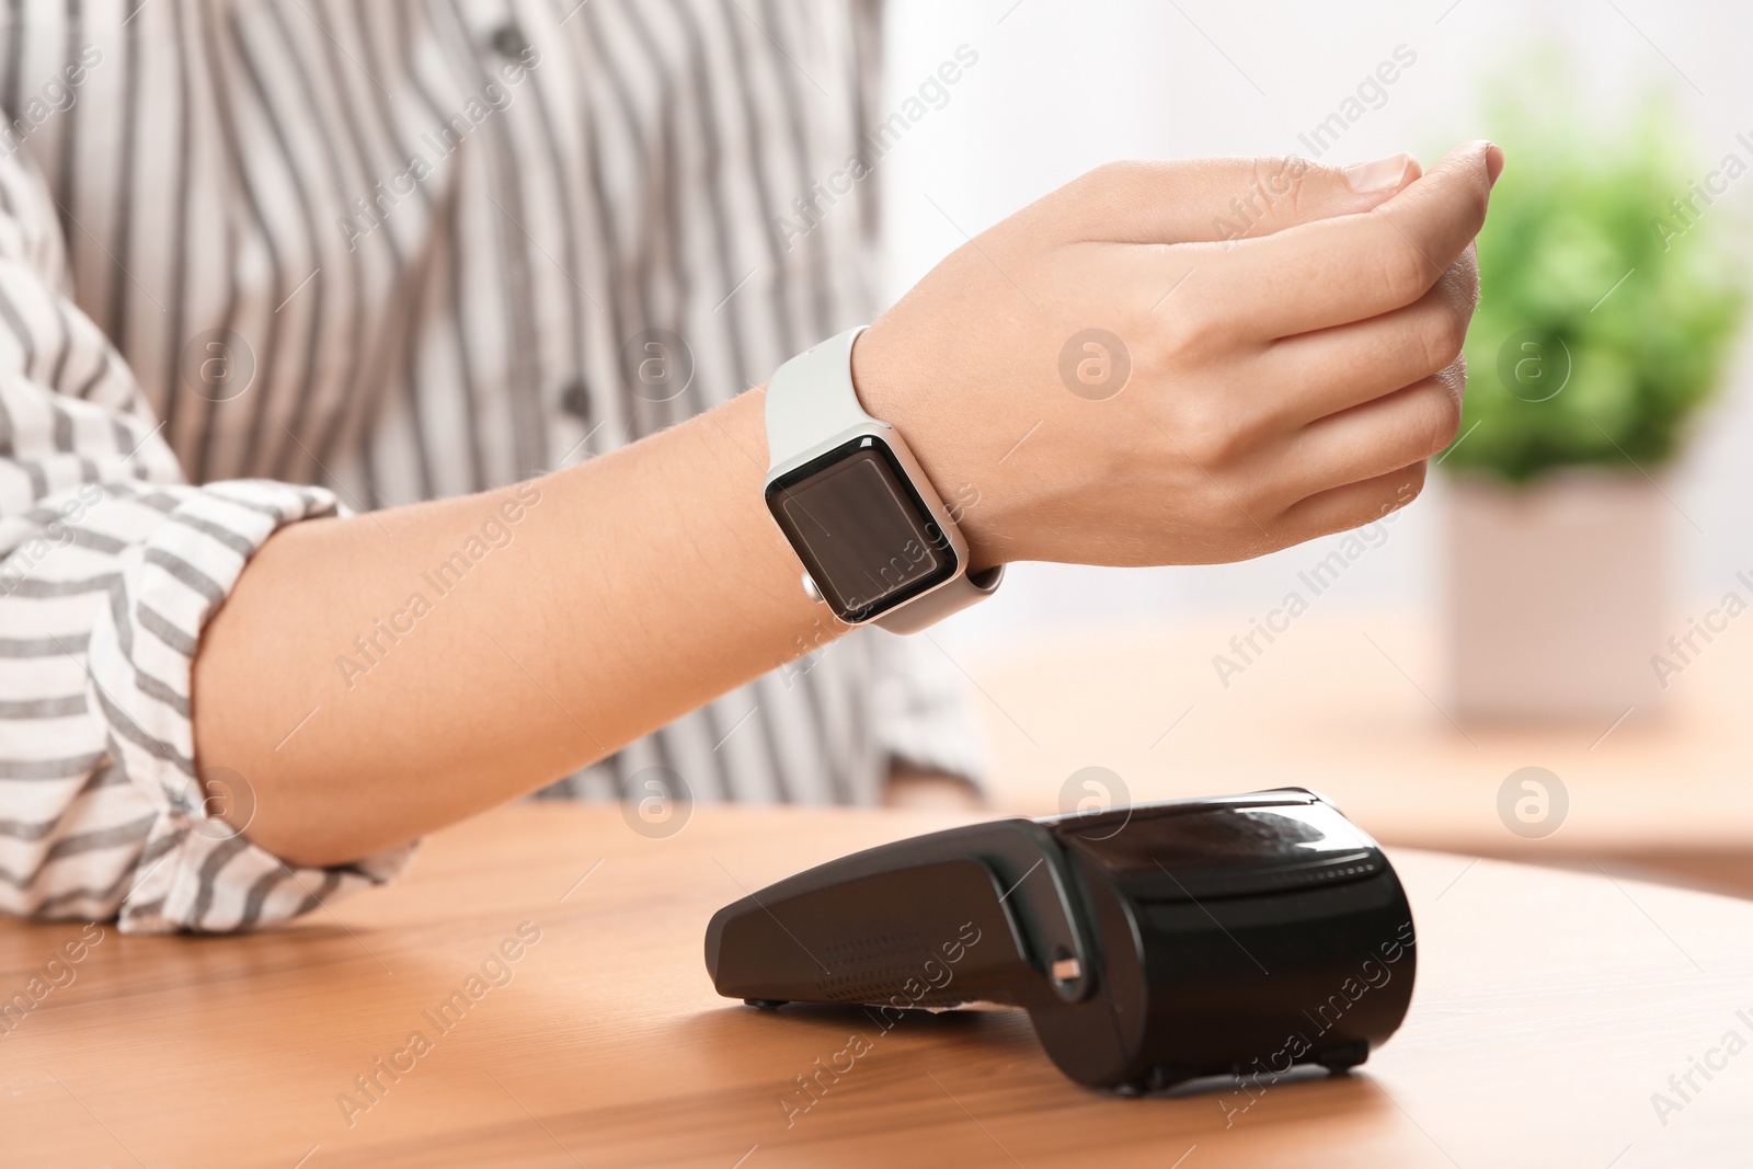
[[[891,298],[905,291],[962,242],[961,230],[976,233],[1113,158],[1309,154],[1297,135],[1397,46],[1416,63],[1324,158],[1413,151],[1430,163],[1481,133],[1474,110],[1485,79],[1544,32],[1569,46],[1608,128],[1655,82],[1679,98],[1700,174],[1735,133],[1753,137],[1744,60],[1753,5],[1730,0],[889,0],[891,109],[959,46],[978,63],[882,159],[885,289]],[[1727,202],[1746,212],[1749,189],[1732,188]],[[1753,345],[1742,344],[1721,401],[1667,487],[1702,528],[1674,517],[1679,608],[1720,596],[1734,571],[1753,568],[1749,356]],[[1436,612],[1441,496],[1437,482],[1346,575],[1334,606]],[[954,619],[941,636],[973,645],[1092,622],[1264,612],[1315,559],[1306,547],[1217,568],[1024,564],[994,603]]]

